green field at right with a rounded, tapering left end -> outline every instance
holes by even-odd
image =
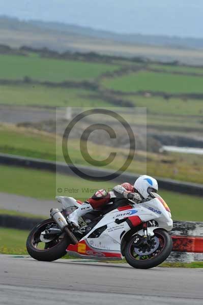
[[[203,78],[189,75],[141,71],[106,78],[104,87],[122,92],[203,93]]]

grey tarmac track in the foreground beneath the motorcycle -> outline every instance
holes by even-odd
[[[85,260],[0,255],[0,304],[190,304],[203,300],[203,269],[133,269]]]

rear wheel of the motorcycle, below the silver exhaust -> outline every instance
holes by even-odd
[[[40,261],[54,261],[66,254],[66,249],[70,244],[67,234],[63,232],[52,234],[47,236],[47,240],[42,241],[41,233],[53,226],[56,226],[53,219],[47,219],[36,225],[28,235],[26,248],[33,258]]]

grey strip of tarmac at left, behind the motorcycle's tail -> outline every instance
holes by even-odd
[[[60,204],[56,200],[41,200],[31,197],[0,193],[0,209],[43,215],[49,218],[50,208],[58,206],[60,206]]]

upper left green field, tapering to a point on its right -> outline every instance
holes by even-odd
[[[79,61],[0,54],[0,79],[23,79],[25,76],[39,81],[92,80],[119,66],[84,63]]]

